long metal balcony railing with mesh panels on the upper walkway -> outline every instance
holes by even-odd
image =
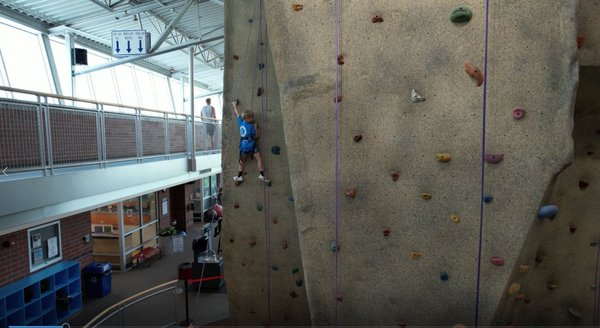
[[[0,171],[52,175],[60,168],[221,150],[220,120],[2,86],[0,91]]]

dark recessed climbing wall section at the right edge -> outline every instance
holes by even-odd
[[[573,163],[549,187],[554,218],[537,219],[496,313],[499,324],[597,326],[600,246],[600,67],[580,69]]]

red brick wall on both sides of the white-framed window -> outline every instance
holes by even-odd
[[[83,269],[92,262],[92,244],[83,243],[83,236],[90,233],[90,213],[62,219],[60,229],[63,260],[79,261]],[[14,245],[4,247],[10,241]],[[0,287],[30,274],[27,243],[27,229],[0,236]]]

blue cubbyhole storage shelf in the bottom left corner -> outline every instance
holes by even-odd
[[[0,288],[0,327],[56,326],[81,307],[79,262],[59,262]]]

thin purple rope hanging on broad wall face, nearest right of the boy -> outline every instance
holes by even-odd
[[[339,170],[339,159],[340,159],[340,105],[339,105],[339,71],[340,65],[337,63],[337,58],[340,54],[340,3],[339,0],[335,0],[335,246],[339,245],[340,239],[340,170]],[[335,302],[335,316],[334,326],[338,325],[338,267],[339,267],[339,250],[335,252],[335,283],[334,283],[334,302]]]

